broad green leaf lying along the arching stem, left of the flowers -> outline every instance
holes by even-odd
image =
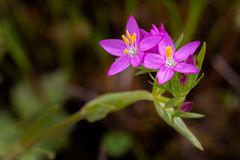
[[[83,106],[81,112],[90,122],[106,117],[108,113],[121,110],[139,100],[152,100],[147,91],[129,91],[101,95]]]

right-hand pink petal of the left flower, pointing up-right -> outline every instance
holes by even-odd
[[[148,36],[140,42],[139,49],[141,51],[146,51],[148,49],[151,49],[154,46],[156,46],[161,39],[162,39],[162,36]]]

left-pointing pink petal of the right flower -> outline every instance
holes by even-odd
[[[148,69],[159,69],[164,63],[164,58],[154,53],[147,53],[143,60],[143,66]]]

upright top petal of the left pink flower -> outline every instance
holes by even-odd
[[[133,16],[130,16],[128,18],[127,25],[126,25],[126,30],[128,30],[128,32],[131,35],[136,33],[136,35],[137,35],[137,42],[139,42],[139,40],[140,40],[140,31],[139,31],[139,27],[138,27],[137,21],[135,20],[135,18]]]

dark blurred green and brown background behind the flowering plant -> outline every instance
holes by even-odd
[[[0,159],[97,95],[150,89],[132,68],[108,77],[113,57],[98,45],[120,38],[129,15],[146,30],[164,23],[174,40],[184,33],[184,43],[206,41],[205,77],[188,96],[206,117],[186,121],[205,151],[138,102],[62,130],[18,159],[240,159],[238,0],[0,0]]]

